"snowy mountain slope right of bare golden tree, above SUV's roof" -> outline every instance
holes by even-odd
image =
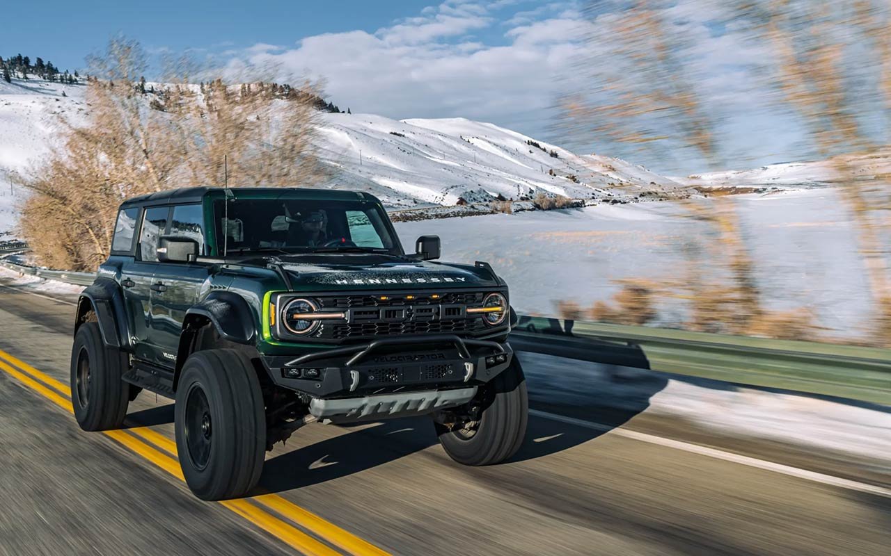
[[[526,135],[464,118],[397,121],[369,114],[324,114],[321,132],[323,158],[345,174],[337,181],[368,188],[391,206],[454,205],[460,198],[519,199],[539,191],[598,198],[618,184],[680,187],[616,158],[579,157],[535,141],[539,148],[528,144],[534,140]],[[552,150],[558,157],[549,154]]]

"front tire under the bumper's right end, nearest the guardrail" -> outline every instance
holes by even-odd
[[[445,424],[434,422],[446,454],[464,465],[501,463],[516,454],[526,438],[529,412],[526,378],[519,361],[514,358],[510,367],[480,386],[475,401],[470,402],[474,403],[481,403],[482,411],[469,438],[459,429],[460,425],[450,430]]]

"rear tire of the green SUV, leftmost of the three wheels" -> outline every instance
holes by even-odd
[[[71,406],[84,431],[119,429],[127,416],[127,354],[102,342],[99,324],[78,328],[71,348]]]

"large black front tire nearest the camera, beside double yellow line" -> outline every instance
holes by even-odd
[[[174,423],[179,463],[195,496],[237,498],[257,485],[266,455],[266,413],[247,355],[225,349],[189,356],[176,386]]]

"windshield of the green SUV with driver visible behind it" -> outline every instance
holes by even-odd
[[[363,201],[222,199],[214,201],[217,249],[228,254],[330,250],[400,254],[387,215]],[[225,238],[225,240],[224,240]]]

